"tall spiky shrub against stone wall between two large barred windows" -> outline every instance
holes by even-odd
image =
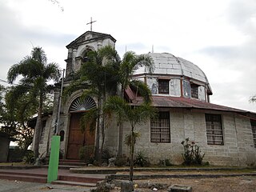
[[[202,159],[205,156],[205,153],[201,154],[200,147],[195,144],[195,142],[190,142],[190,138],[186,138],[185,141],[182,141],[182,146],[184,149],[183,164],[185,165],[202,165]]]

